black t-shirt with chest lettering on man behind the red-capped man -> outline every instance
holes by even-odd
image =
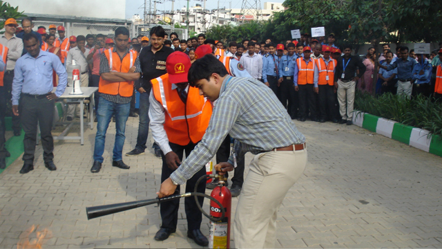
[[[154,54],[152,52],[152,46],[146,46],[140,53],[140,66],[143,72],[143,77],[135,85],[137,89],[144,88],[147,93],[151,91],[151,80],[160,77],[167,73],[166,71],[166,59],[173,53],[173,49],[167,46],[162,46],[160,50]]]

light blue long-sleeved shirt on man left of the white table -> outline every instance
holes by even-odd
[[[12,104],[19,104],[21,93],[44,95],[52,92],[52,69],[59,77],[55,95],[60,97],[68,84],[68,73],[57,55],[40,50],[37,58],[26,53],[17,59],[12,82]]]

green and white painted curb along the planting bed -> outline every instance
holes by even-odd
[[[362,111],[354,111],[353,124],[417,149],[442,156],[442,136],[427,136],[430,133],[427,130],[380,118]]]

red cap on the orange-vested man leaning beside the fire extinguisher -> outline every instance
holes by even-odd
[[[171,53],[166,59],[166,71],[169,73],[169,82],[172,84],[188,82],[187,74],[192,63],[189,56],[180,51]]]

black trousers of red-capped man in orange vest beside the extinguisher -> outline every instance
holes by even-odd
[[[180,160],[182,160],[184,152],[186,152],[186,157],[191,154],[191,151],[193,148],[195,148],[196,144],[193,144],[192,142],[189,143],[189,145],[177,145],[172,142],[169,142],[169,145],[171,146],[171,149],[173,152],[175,152]],[[166,164],[166,157],[163,153],[161,153],[161,158],[163,160],[162,165],[162,172],[161,172],[161,182],[164,182],[174,170],[169,169]],[[200,171],[198,171],[195,175],[192,176],[189,180],[186,182],[186,192],[193,192],[193,188],[195,187],[196,181],[198,181],[198,178],[201,176],[204,176],[206,174],[206,167],[202,167]],[[206,191],[206,181],[202,180],[200,182],[200,185],[198,185],[198,192],[204,193]],[[177,186],[177,189],[175,190],[175,194],[180,193],[180,185]],[[204,201],[203,197],[198,196],[198,201],[200,205],[202,206],[202,203]],[[180,199],[176,199],[173,201],[166,201],[164,203],[160,203],[160,214],[162,219],[162,228],[169,228],[172,230],[175,230],[177,228],[177,222],[178,222],[178,209],[180,208]],[[202,221],[202,214],[201,211],[198,209],[196,203],[195,203],[195,197],[186,197],[184,199],[184,210],[186,211],[186,217],[187,217],[187,228],[189,230],[195,230],[200,229],[201,221]]]

